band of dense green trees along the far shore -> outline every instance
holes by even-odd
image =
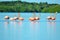
[[[60,12],[59,4],[28,3],[21,1],[0,2],[0,12]]]

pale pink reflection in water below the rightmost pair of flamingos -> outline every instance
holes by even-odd
[[[56,22],[55,21],[50,21],[47,22],[47,33],[48,33],[48,40],[51,38],[53,39],[55,36],[55,31],[56,31]]]

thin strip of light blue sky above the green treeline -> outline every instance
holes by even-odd
[[[0,1],[12,1],[12,0],[0,0]],[[16,0],[13,0],[16,1]],[[26,1],[26,2],[48,2],[48,3],[57,3],[60,4],[60,0],[21,0],[21,1]]]

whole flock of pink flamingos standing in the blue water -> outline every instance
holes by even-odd
[[[56,13],[57,13],[57,12],[56,12]],[[56,13],[55,13],[54,16],[48,16],[47,19],[48,19],[48,20],[56,20]],[[9,16],[5,16],[4,19],[5,19],[5,20],[9,19],[9,20],[11,20],[11,21],[14,21],[14,20],[21,20],[21,21],[23,21],[23,20],[24,20],[24,18],[21,17],[20,13],[18,13],[18,16],[15,16],[15,17],[13,17],[13,18],[10,18]],[[40,14],[39,14],[39,16],[36,16],[36,14],[33,13],[33,16],[30,17],[29,20],[30,20],[30,21],[40,20]]]

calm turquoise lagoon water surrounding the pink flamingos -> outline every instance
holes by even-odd
[[[4,16],[14,17],[17,13],[0,13],[0,40],[60,40],[60,13],[51,22],[46,18],[50,13],[36,14],[39,21],[29,21],[32,13],[21,13],[25,20],[17,22],[4,20]]]

